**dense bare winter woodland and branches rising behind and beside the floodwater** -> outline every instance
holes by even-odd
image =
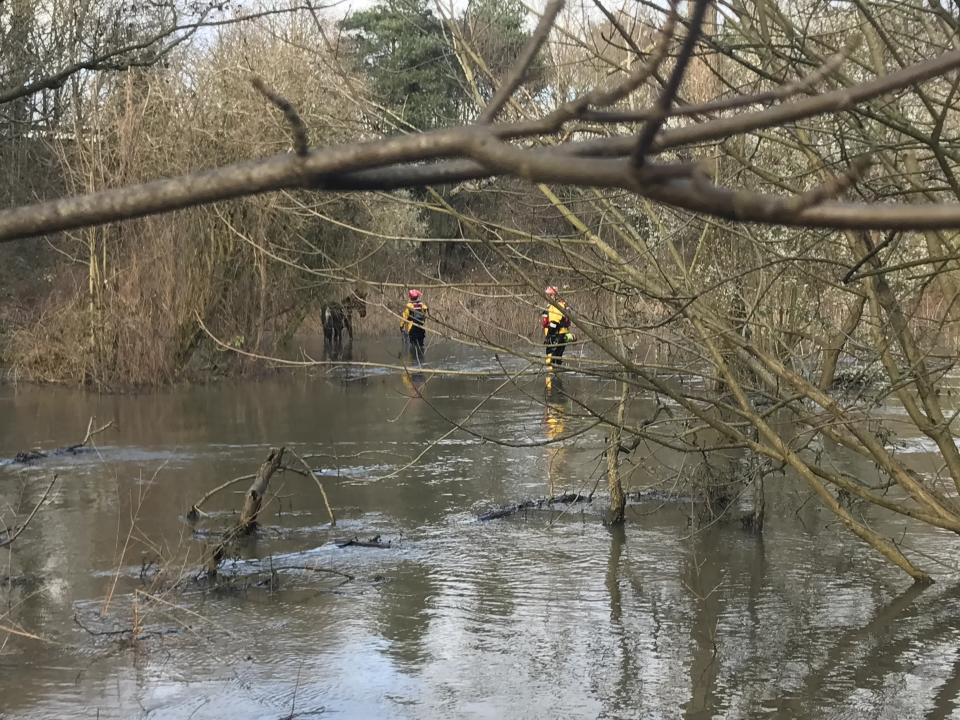
[[[956,6],[541,10],[4,4],[6,207],[227,168],[202,196],[0,213],[3,237],[43,235],[6,248],[10,375],[162,384],[225,347],[245,370],[357,288],[392,327],[413,282],[443,298],[433,332],[536,372],[551,282],[590,351],[569,369],[617,383],[612,407],[576,399],[607,428],[612,520],[667,446],[717,512],[752,497],[761,528],[789,473],[927,579],[859,508],[960,532]],[[631,420],[641,396],[660,410]],[[939,468],[897,455],[888,401]]]

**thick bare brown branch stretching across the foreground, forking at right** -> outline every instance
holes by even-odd
[[[888,75],[764,110],[706,120],[657,134],[645,154],[716,142],[763,128],[785,127],[805,118],[830,115],[942,76],[960,67],[960,50],[943,53]],[[587,103],[581,114],[590,108]],[[701,188],[683,180],[682,165],[636,167],[629,156],[633,136],[568,142],[552,148],[508,145],[511,139],[548,137],[570,120],[557,118],[474,125],[284,154],[206,172],[156,180],[0,211],[0,241],[143,217],[154,213],[244,197],[273,190],[321,191],[422,187],[491,176],[530,182],[616,187],[642,196],[742,221],[846,229],[938,229],[960,227],[960,203],[872,205],[824,202],[796,210],[789,196]],[[497,147],[500,144],[503,147]],[[301,146],[300,151],[304,148]],[[499,151],[499,152],[494,152]],[[510,151],[510,152],[505,152]],[[649,151],[649,153],[648,153]],[[444,162],[445,161],[445,162]],[[652,169],[652,171],[651,171]],[[687,173],[689,174],[689,172]]]

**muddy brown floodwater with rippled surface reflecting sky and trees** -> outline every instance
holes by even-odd
[[[430,361],[498,368],[443,347]],[[960,717],[954,537],[870,518],[926,556],[914,557],[938,582],[920,589],[788,480],[772,491],[762,537],[735,522],[696,530],[683,502],[633,505],[615,531],[598,507],[478,522],[551,489],[589,490],[602,467],[596,430],[537,444],[585,422],[569,402],[544,407],[542,378],[505,388],[470,420],[529,446],[450,432],[444,416],[463,419],[502,382],[435,378],[423,399],[407,397],[398,373],[372,370],[136,395],[0,388],[0,456],[76,442],[91,415],[116,421],[95,453],[0,467],[6,517],[59,476],[13,552],[0,550],[0,576],[21,578],[0,593],[0,626],[42,638],[7,636],[0,717]],[[586,379],[565,387],[614,394]],[[926,444],[900,441],[918,466],[935,465]],[[189,551],[189,573],[203,538],[185,510],[278,444],[314,456],[336,528],[315,486],[277,476],[263,532],[228,563],[249,582],[188,581],[160,596],[170,605],[139,596],[146,637],[132,645],[80,627],[129,627],[137,591],[162,592],[139,577],[144,562]],[[631,482],[682,464],[658,459]],[[239,497],[212,500],[201,527],[226,525]],[[355,535],[391,547],[337,547]],[[281,570],[278,588],[244,587],[269,579],[270,563],[353,580]]]

